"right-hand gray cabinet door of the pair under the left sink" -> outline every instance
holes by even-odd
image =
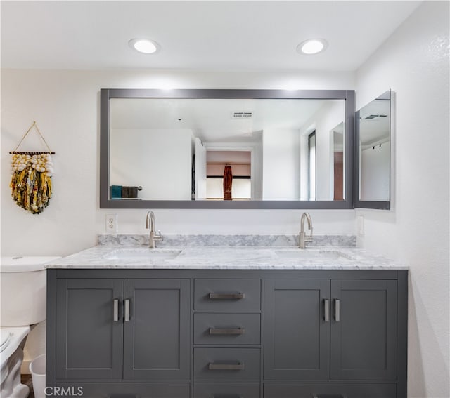
[[[125,279],[124,378],[189,380],[190,286],[188,279]]]

